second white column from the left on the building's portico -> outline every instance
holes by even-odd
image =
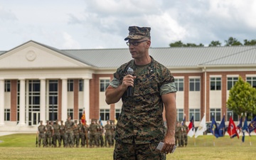
[[[25,80],[20,80],[20,108],[19,108],[19,123],[20,126],[25,126]]]

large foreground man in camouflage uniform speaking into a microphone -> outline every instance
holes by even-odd
[[[150,28],[146,27],[129,27],[129,36],[124,40],[129,40],[127,44],[134,59],[117,68],[114,79],[106,90],[107,104],[118,102],[120,96],[123,103],[115,134],[114,159],[166,159],[166,154],[157,150],[156,146],[159,142],[166,142],[161,151],[167,154],[174,147],[176,122],[174,77],[168,68],[149,56],[151,43],[149,31]],[[139,60],[146,63],[136,65],[135,60],[137,63],[141,62]],[[136,77],[127,73],[128,68],[134,70],[133,75]],[[134,81],[131,80],[132,78]],[[131,97],[124,91],[127,86],[132,86]],[[162,115],[163,103],[166,105],[168,125],[166,136]]]

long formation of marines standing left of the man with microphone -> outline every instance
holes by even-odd
[[[41,147],[113,147],[114,130],[116,126],[114,121],[107,120],[107,124],[97,119],[92,119],[90,125],[82,124],[82,120],[72,121],[68,116],[64,123],[58,120],[55,122],[47,121],[46,125],[40,121],[38,126],[38,146]]]

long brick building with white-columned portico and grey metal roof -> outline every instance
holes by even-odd
[[[256,46],[150,48],[165,65],[178,88],[177,120],[192,114],[198,124],[239,117],[225,102],[241,76],[256,87]],[[107,105],[105,88],[113,73],[131,59],[128,48],[60,50],[28,41],[0,51],[0,129],[36,129],[39,120],[118,119],[122,102]]]

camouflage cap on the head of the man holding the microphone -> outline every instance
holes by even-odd
[[[129,26],[129,36],[124,38],[124,41],[129,39],[142,39],[144,37],[150,37],[150,29],[150,27]]]

